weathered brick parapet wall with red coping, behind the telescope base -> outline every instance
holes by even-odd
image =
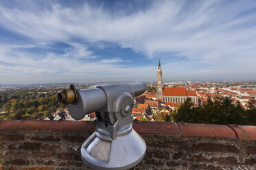
[[[90,121],[0,121],[0,169],[88,169]],[[135,121],[147,143],[134,169],[255,169],[256,127]]]

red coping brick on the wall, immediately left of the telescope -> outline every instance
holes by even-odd
[[[94,132],[95,121],[54,121],[52,131]]]

